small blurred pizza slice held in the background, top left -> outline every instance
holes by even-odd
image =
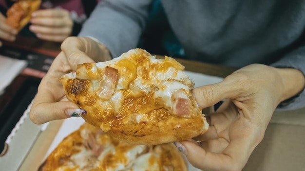
[[[41,0],[18,0],[6,13],[6,23],[20,31],[27,25],[32,17],[32,13],[38,10]]]

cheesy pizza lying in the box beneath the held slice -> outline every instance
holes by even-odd
[[[57,145],[38,171],[187,171],[187,164],[173,143],[132,145],[85,123]]]

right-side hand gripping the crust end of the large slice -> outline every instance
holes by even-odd
[[[194,138],[197,141],[175,142],[176,146],[196,168],[241,171],[263,139],[277,105],[304,86],[299,70],[253,64],[220,83],[195,88],[192,92],[202,108],[226,101],[207,117],[207,133]]]

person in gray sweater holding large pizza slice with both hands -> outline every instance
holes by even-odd
[[[32,121],[69,118],[78,106],[60,101],[65,94],[57,79],[75,70],[76,64],[110,60],[135,48],[152,2],[101,1],[79,37],[62,43],[62,52],[39,85]],[[239,68],[220,83],[192,90],[202,108],[226,100],[209,115],[206,134],[175,144],[196,168],[242,170],[273,112],[305,106],[305,1],[161,0],[161,4],[188,59]]]

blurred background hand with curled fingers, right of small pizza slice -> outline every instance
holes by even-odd
[[[72,34],[73,20],[65,9],[38,10],[31,23],[30,30],[43,40],[62,42]]]

